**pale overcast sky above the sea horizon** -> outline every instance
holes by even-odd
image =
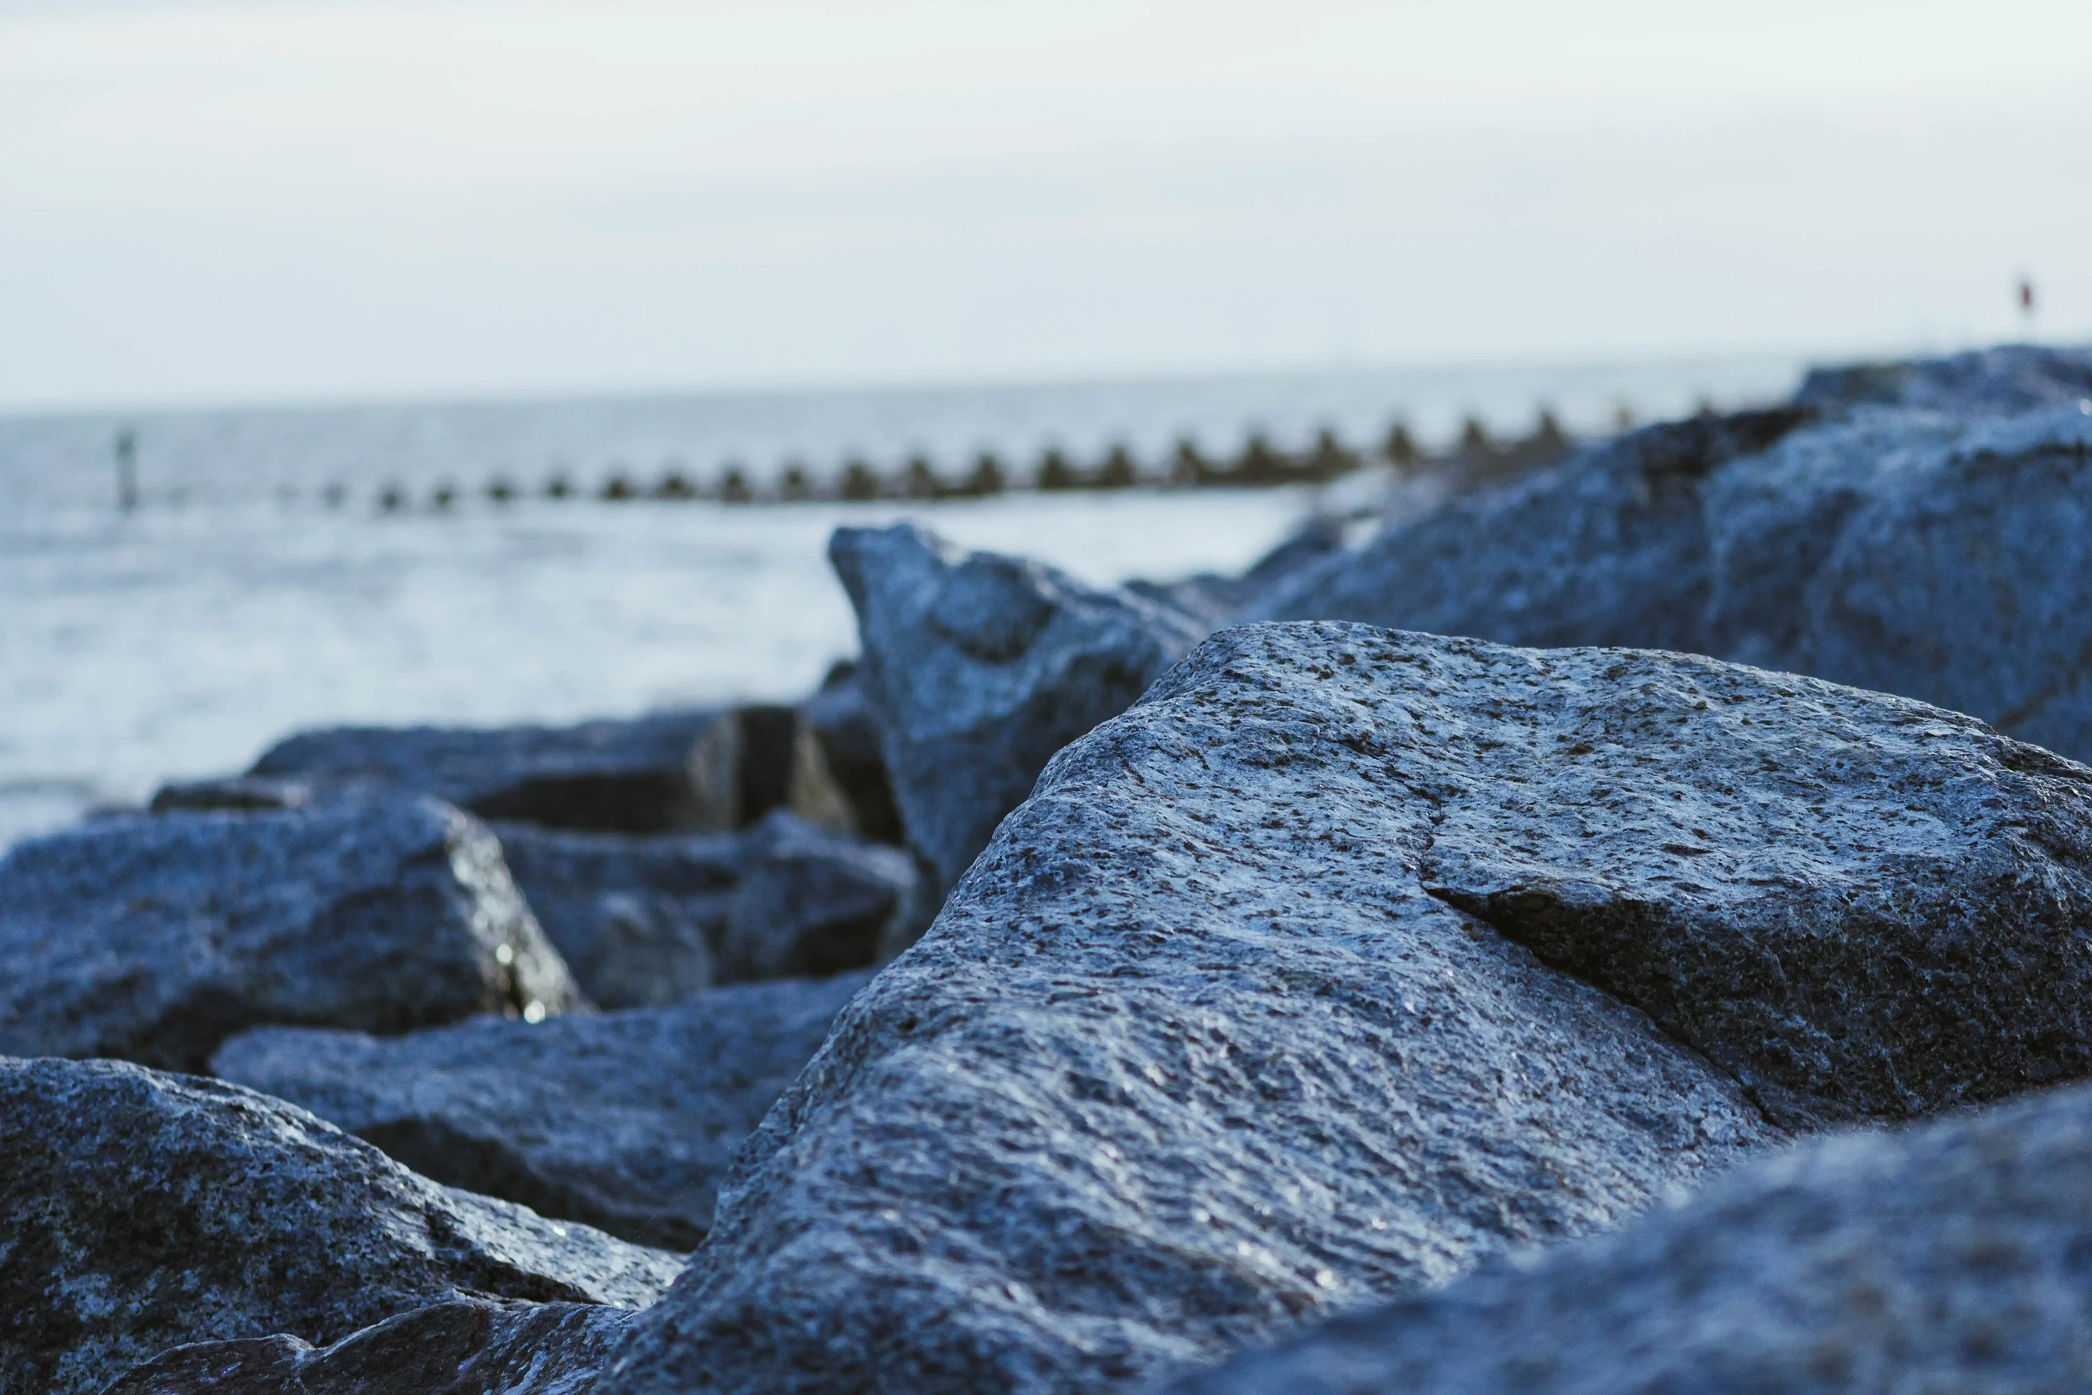
[[[0,0],[0,410],[2092,339],[2088,52],[2084,0]]]

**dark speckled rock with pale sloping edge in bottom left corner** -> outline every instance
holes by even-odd
[[[0,1058],[0,1393],[195,1341],[328,1343],[460,1293],[649,1303],[678,1255],[454,1192],[220,1081]]]

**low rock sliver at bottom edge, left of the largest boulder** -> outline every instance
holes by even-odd
[[[176,1347],[107,1395],[588,1395],[632,1313],[450,1299],[314,1347],[251,1336]]]

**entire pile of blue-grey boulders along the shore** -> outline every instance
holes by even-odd
[[[0,1395],[2092,1385],[2092,351],[0,860]]]

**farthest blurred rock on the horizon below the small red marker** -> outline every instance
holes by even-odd
[[[2008,343],[1950,358],[1816,368],[1795,402],[1904,406],[1954,414],[2010,414],[2069,408],[2092,397],[2092,349]]]

